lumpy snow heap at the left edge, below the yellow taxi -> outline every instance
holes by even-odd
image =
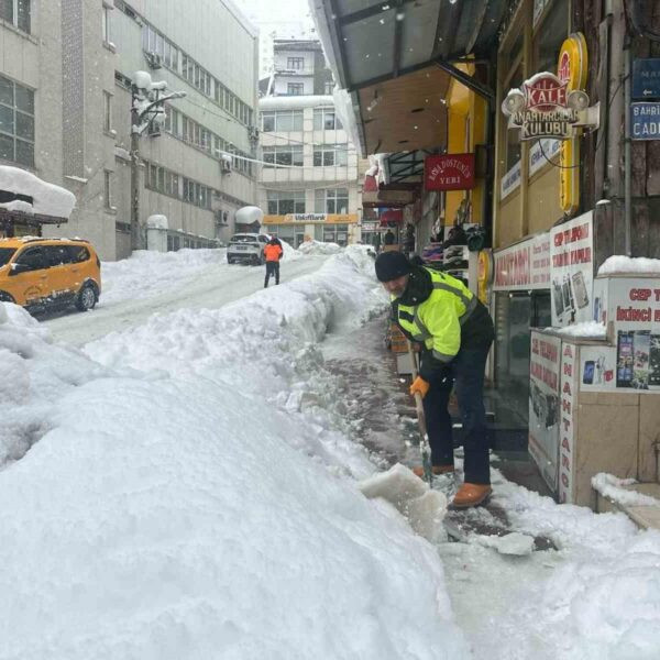
[[[48,430],[67,392],[108,373],[80,352],[54,345],[22,307],[0,302],[0,468],[21,459]]]

